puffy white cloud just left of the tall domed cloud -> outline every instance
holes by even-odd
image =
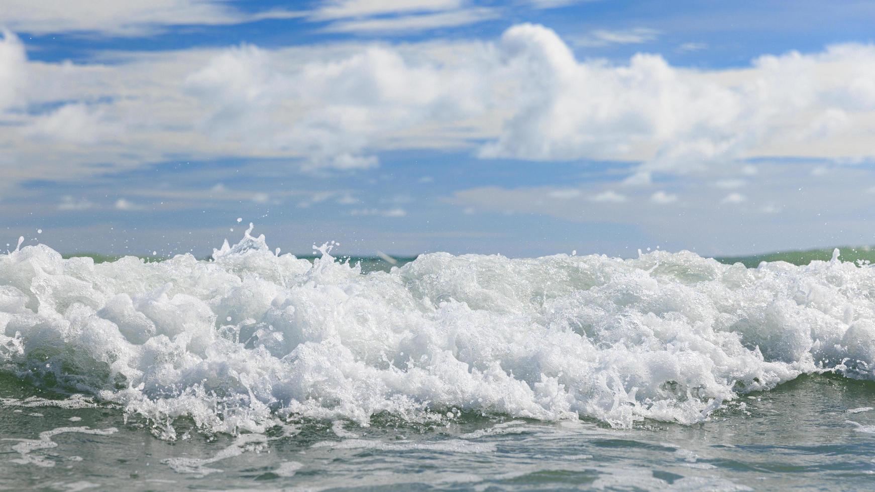
[[[293,67],[244,45],[214,56],[186,88],[208,114],[202,128],[216,138],[297,152],[311,168],[351,170],[376,166],[363,152],[395,132],[479,114],[471,75],[376,45]]]

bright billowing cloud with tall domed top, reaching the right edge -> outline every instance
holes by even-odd
[[[873,154],[861,144],[875,136],[872,45],[710,72],[649,54],[581,62],[533,24],[508,29],[497,47],[514,111],[480,156],[643,160],[645,170],[684,172],[747,156]]]

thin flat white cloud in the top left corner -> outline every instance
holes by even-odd
[[[3,3],[6,27],[33,34],[93,31],[113,36],[143,36],[169,25],[241,24],[303,15],[303,12],[290,10],[246,13],[222,0],[4,0]]]

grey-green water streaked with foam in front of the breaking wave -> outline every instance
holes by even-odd
[[[114,408],[0,409],[0,488],[95,489],[871,489],[875,384],[801,377],[691,426],[541,422],[463,415],[442,425],[386,419],[297,422],[268,433],[158,440]],[[43,395],[45,396],[45,395]],[[20,412],[19,412],[20,411]],[[81,419],[71,421],[70,419]],[[58,427],[110,429],[21,440]],[[45,442],[49,442],[46,440]],[[16,447],[20,447],[16,450]],[[25,461],[25,462],[22,462]],[[29,462],[28,462],[29,461]]]

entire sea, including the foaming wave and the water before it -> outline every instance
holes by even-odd
[[[872,489],[875,269],[0,254],[0,489]]]

